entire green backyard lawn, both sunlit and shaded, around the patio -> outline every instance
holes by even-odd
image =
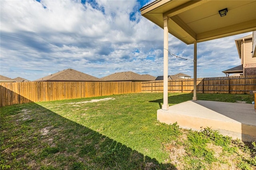
[[[192,94],[169,94],[170,105]],[[111,98],[88,103],[92,99]],[[253,101],[252,95],[198,94],[200,100]],[[1,108],[2,169],[256,169],[256,144],[210,128],[184,130],[156,120],[162,93],[27,103]]]

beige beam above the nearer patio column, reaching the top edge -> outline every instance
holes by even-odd
[[[202,5],[205,2],[208,2],[209,0],[191,0],[186,2],[185,4],[182,4],[174,9],[171,9],[163,14],[163,16],[172,17],[175,15],[178,15],[182,12],[185,12],[186,10],[190,10],[192,8],[195,8],[196,6]]]

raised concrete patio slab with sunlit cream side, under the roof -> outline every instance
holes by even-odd
[[[157,119],[162,123],[175,123],[182,128],[201,130],[210,127],[221,134],[256,141],[256,111],[254,105],[218,101],[186,101],[159,109]]]

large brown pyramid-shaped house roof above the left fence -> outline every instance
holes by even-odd
[[[35,81],[102,81],[102,80],[92,75],[88,75],[80,71],[76,71],[74,69],[65,69],[63,71],[59,71],[58,73],[54,73],[46,77],[37,79]]]

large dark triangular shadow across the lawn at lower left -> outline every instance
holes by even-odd
[[[36,103],[2,107],[0,121],[1,162],[6,167],[176,170]]]

